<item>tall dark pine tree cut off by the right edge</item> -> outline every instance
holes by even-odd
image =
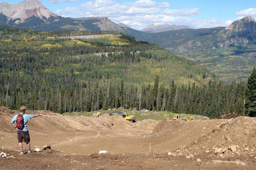
[[[256,116],[256,69],[252,70],[251,76],[248,78],[246,89],[246,113],[247,115]]]

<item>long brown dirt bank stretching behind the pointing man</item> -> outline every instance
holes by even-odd
[[[28,121],[28,127],[35,133],[60,133],[62,131],[73,130],[107,130],[107,129],[129,129],[132,123],[126,121],[118,115],[109,116],[104,114],[100,117],[86,116],[62,116],[51,111],[32,111],[31,114],[44,114],[43,117],[37,117]],[[12,133],[13,128],[10,125],[13,114],[0,115],[0,134]]]

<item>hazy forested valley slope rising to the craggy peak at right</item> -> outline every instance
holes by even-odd
[[[157,44],[196,61],[225,81],[246,80],[256,65],[256,22],[252,17],[225,27],[141,33],[127,29],[141,41]]]

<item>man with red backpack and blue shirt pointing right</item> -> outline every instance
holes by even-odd
[[[29,137],[28,126],[27,126],[28,120],[33,118],[33,117],[43,116],[41,114],[39,114],[39,115],[28,115],[28,114],[25,114],[25,112],[26,112],[26,107],[21,106],[20,107],[20,113],[13,116],[12,121],[11,121],[12,126],[17,129],[18,142],[19,142],[19,146],[20,146],[20,154],[23,154],[22,141],[27,144],[28,153],[31,153],[30,137]],[[16,124],[14,124],[15,122],[16,122]]]

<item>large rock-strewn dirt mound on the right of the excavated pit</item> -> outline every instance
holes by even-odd
[[[234,155],[256,155],[256,118],[195,120],[164,119],[149,137],[155,150],[172,155],[208,155],[230,159]]]

